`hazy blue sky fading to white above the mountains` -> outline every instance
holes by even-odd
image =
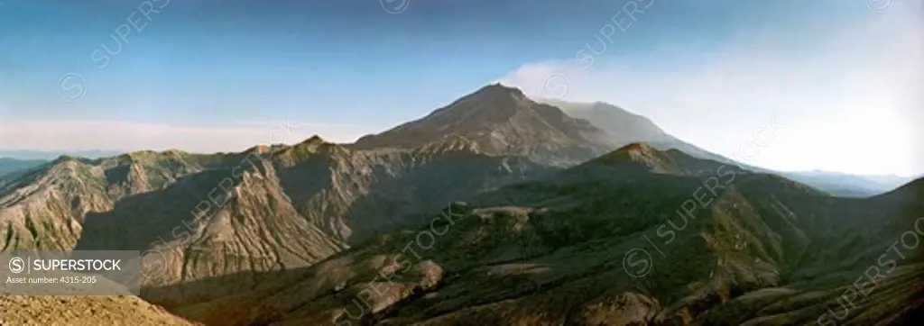
[[[500,80],[723,155],[775,116],[766,168],[924,172],[921,0],[257,4],[0,1],[0,149],[348,142]]]

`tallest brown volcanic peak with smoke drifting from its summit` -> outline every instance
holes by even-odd
[[[560,109],[527,98],[513,87],[480,88],[429,115],[382,134],[366,135],[354,148],[413,148],[462,136],[492,155],[527,157],[572,166],[614,148],[600,129]]]

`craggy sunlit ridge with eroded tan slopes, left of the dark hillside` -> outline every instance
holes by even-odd
[[[148,252],[143,296],[189,305],[552,170],[482,153],[464,137],[409,149],[354,150],[315,136],[232,154],[59,157],[0,187],[0,237],[2,250]],[[228,275],[247,277],[195,282]]]

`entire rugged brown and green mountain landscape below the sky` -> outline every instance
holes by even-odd
[[[563,106],[490,85],[355,144],[58,157],[0,183],[0,249],[153,252],[140,306],[176,323],[922,317],[924,255],[897,243],[916,234],[924,180],[836,197],[614,106]]]

